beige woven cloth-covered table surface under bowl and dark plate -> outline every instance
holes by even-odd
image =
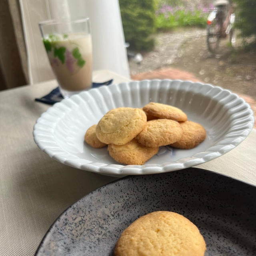
[[[127,78],[107,70],[94,82]],[[34,255],[54,220],[74,202],[116,178],[78,170],[44,154],[33,126],[50,106],[35,102],[56,80],[0,92],[0,256]],[[227,154],[196,167],[256,185],[256,130]]]

